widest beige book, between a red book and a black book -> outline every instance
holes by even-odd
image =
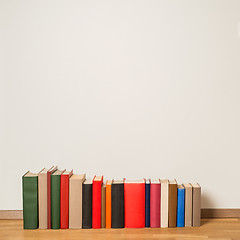
[[[86,175],[69,178],[69,228],[82,228],[82,183]]]

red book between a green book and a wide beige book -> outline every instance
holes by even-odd
[[[71,172],[64,172],[61,175],[60,188],[60,228],[65,229],[69,226],[69,178],[72,176]]]

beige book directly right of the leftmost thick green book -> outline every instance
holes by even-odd
[[[38,173],[38,215],[39,228],[47,229],[47,169]]]

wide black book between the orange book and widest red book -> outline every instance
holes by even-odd
[[[113,180],[111,189],[112,228],[124,228],[124,182]]]

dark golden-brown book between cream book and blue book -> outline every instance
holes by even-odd
[[[169,181],[168,226],[177,226],[177,181]]]

